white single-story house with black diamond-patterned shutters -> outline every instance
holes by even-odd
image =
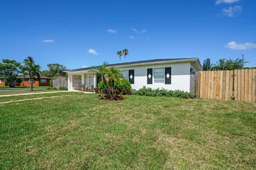
[[[124,78],[129,80],[132,89],[143,86],[153,89],[190,90],[190,74],[202,71],[198,58],[170,58],[136,62],[109,64],[120,70]],[[68,90],[78,90],[81,84],[97,87],[101,78],[91,72],[92,67],[68,71]]]

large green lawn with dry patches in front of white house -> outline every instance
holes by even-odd
[[[62,95],[0,104],[1,169],[255,169],[255,103]]]

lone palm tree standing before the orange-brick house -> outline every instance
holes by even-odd
[[[35,81],[35,76],[40,78],[40,66],[35,64],[32,57],[28,56],[24,62],[25,65],[22,67],[23,75],[29,75],[30,77],[30,91],[33,91],[33,82]]]

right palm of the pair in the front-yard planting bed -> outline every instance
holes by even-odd
[[[123,79],[124,76],[119,70],[115,69],[114,67],[110,67],[110,69],[108,70],[108,80],[114,98],[116,98],[116,94],[114,91],[115,81],[121,82],[121,80]]]

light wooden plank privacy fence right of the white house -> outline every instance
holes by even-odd
[[[197,77],[199,98],[256,101],[256,69],[201,71]]]

